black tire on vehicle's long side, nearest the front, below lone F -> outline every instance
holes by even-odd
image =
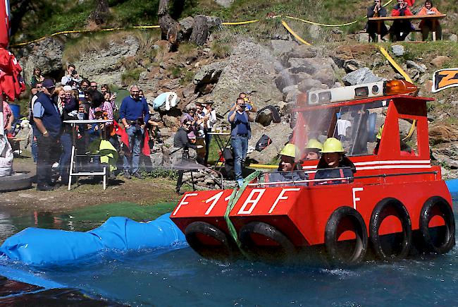
[[[344,231],[353,231],[355,240],[338,241]],[[325,246],[331,265],[343,267],[358,265],[366,255],[367,242],[366,224],[357,210],[347,206],[338,207],[330,215],[325,229]]]

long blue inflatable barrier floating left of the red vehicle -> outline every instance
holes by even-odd
[[[110,217],[87,232],[27,228],[6,239],[0,253],[11,260],[37,265],[77,260],[102,249],[126,251],[185,243],[185,235],[169,216],[167,213],[147,223]]]

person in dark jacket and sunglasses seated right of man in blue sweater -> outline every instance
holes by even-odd
[[[193,159],[196,157],[195,151],[190,155],[189,150],[197,150],[197,148],[203,147],[202,145],[194,145],[188,138],[187,133],[189,133],[190,127],[192,125],[193,124],[191,119],[185,119],[185,121],[182,121],[181,127],[178,128],[178,131],[175,133],[175,136],[173,137],[172,148],[172,155],[175,155],[175,157],[181,156],[184,159]],[[178,159],[175,159],[175,161],[178,162]],[[178,171],[177,186],[175,188],[177,193],[180,193],[184,172],[185,171],[181,169]]]

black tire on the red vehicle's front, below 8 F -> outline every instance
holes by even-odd
[[[271,241],[271,244],[268,246],[256,245],[252,234],[264,236],[268,241]],[[261,260],[285,260],[296,253],[294,244],[290,239],[287,239],[287,236],[276,227],[264,222],[245,224],[240,228],[239,240],[245,252],[252,255],[253,258]]]

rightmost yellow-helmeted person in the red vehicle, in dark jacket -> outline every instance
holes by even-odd
[[[352,181],[356,172],[354,164],[345,156],[342,143],[337,138],[328,138],[323,143],[321,159],[316,167],[315,179],[329,179],[318,181],[316,184],[336,184]],[[345,178],[338,179],[337,178]]]

